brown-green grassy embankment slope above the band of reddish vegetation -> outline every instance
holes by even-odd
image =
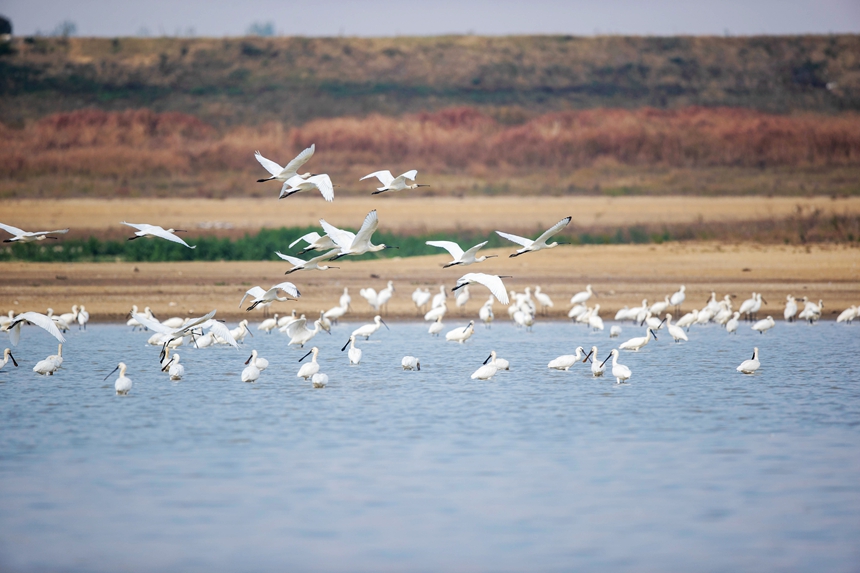
[[[0,122],[93,107],[302,124],[475,106],[503,123],[594,107],[860,109],[860,37],[15,38]]]

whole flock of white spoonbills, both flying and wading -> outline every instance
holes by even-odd
[[[278,181],[281,185],[279,199],[289,197],[295,193],[303,191],[318,190],[326,201],[334,199],[334,185],[331,178],[326,174],[299,174],[299,169],[313,156],[315,147],[311,147],[302,151],[285,167],[263,157],[260,152],[256,152],[257,161],[270,173],[270,177],[260,179],[259,182]],[[361,181],[366,179],[377,179],[381,187],[378,187],[373,194],[379,194],[389,191],[402,191],[407,189],[415,189],[424,185],[417,183],[408,183],[415,181],[418,172],[416,170],[407,171],[406,173],[394,177],[389,171],[376,171],[361,178]],[[496,233],[519,245],[519,249],[511,253],[510,257],[518,257],[527,253],[532,253],[540,250],[551,249],[558,245],[557,242],[547,242],[554,235],[564,229],[571,221],[571,217],[565,217],[558,223],[547,229],[536,239],[529,239],[496,231]],[[138,223],[127,223],[136,229],[134,236],[129,240],[136,240],[142,237],[157,237],[179,243],[188,248],[195,248],[188,245],[176,233],[183,232],[181,229],[164,229],[160,226]],[[317,256],[311,259],[301,259],[298,256],[286,255],[278,252],[277,255],[287,261],[291,266],[286,274],[291,274],[298,271],[326,271],[336,269],[330,262],[350,255],[362,255],[367,252],[378,252],[383,249],[396,248],[385,244],[374,245],[372,236],[379,226],[379,219],[376,210],[370,211],[361,224],[357,233],[352,233],[345,229],[340,229],[331,225],[324,219],[320,219],[320,225],[323,233],[312,232],[296,239],[290,244],[290,248],[294,248],[297,244],[304,243],[298,255],[316,251]],[[16,227],[5,224],[0,224],[0,229],[3,229],[12,235],[5,242],[34,242],[43,241],[46,239],[57,239],[53,235],[64,234],[69,229],[61,229],[55,231],[38,231],[27,232]],[[468,266],[481,263],[489,258],[497,255],[479,256],[480,249],[487,244],[487,241],[474,245],[473,247],[463,250],[460,245],[452,241],[428,241],[428,245],[445,249],[451,255],[451,261],[444,265],[444,268],[452,266]],[[524,292],[516,293],[509,291],[503,282],[503,278],[507,276],[492,275],[486,273],[466,273],[457,279],[456,286],[451,289],[451,295],[444,285],[440,285],[439,292],[434,296],[428,289],[417,288],[412,294],[412,300],[415,303],[419,312],[429,306],[429,309],[424,313],[424,320],[431,323],[428,333],[431,336],[440,336],[444,325],[442,323],[448,311],[447,299],[449,296],[455,297],[455,304],[458,308],[463,308],[469,301],[471,293],[470,285],[482,285],[490,291],[487,301],[481,306],[478,312],[478,320],[484,323],[486,327],[490,327],[495,320],[493,306],[495,301],[507,306],[509,319],[518,327],[530,330],[539,316],[546,312],[547,309],[553,306],[550,297],[541,292],[540,287],[535,287],[532,293],[527,287]],[[279,296],[283,292],[285,296]],[[376,290],[362,289],[360,295],[367,300],[368,304],[375,310],[381,311],[394,295],[394,285],[391,281],[387,286],[379,292]],[[269,307],[275,302],[286,302],[296,300],[301,296],[299,289],[292,282],[281,282],[268,289],[260,286],[255,286],[249,289],[239,302],[239,308],[245,305],[245,301],[249,301],[245,310],[251,311],[255,308],[262,308],[267,314]],[[593,307],[588,306],[592,296],[596,296],[591,285],[588,285],[582,292],[574,294],[570,299],[571,308],[568,316],[576,323],[587,325],[594,330],[603,330],[603,319],[600,317],[600,305],[595,304]],[[671,294],[666,295],[664,300],[648,304],[647,300],[643,300],[642,304],[637,307],[624,307],[615,315],[615,320],[623,322],[625,320],[633,321],[634,323],[645,327],[643,336],[631,338],[618,345],[610,351],[609,355],[602,361],[599,360],[597,347],[592,346],[589,352],[585,352],[583,347],[578,347],[575,354],[559,356],[552,360],[547,365],[550,369],[569,370],[577,362],[591,361],[591,372],[595,377],[602,376],[606,370],[606,364],[611,359],[610,372],[616,379],[616,383],[625,383],[632,376],[630,368],[618,362],[620,351],[638,351],[643,348],[653,338],[657,339],[657,332],[664,327],[672,339],[678,343],[688,341],[688,333],[690,328],[696,324],[706,324],[716,322],[724,326],[729,333],[736,332],[740,326],[741,320],[753,322],[751,328],[762,334],[774,328],[775,321],[771,316],[767,316],[763,320],[756,320],[757,313],[762,307],[762,304],[767,304],[761,293],[753,293],[752,297],[745,300],[737,311],[733,309],[732,297],[726,295],[723,299],[718,300],[715,293],[711,293],[711,298],[699,310],[693,310],[684,315],[680,315],[681,305],[686,298],[685,287]],[[802,308],[800,307],[802,304]],[[801,300],[796,300],[793,296],[788,295],[784,310],[784,319],[791,321],[794,319],[806,320],[814,323],[821,317],[824,304],[822,301],[815,303],[805,297]],[[351,297],[348,289],[344,289],[338,304],[327,311],[320,311],[319,318],[313,320],[312,328],[308,326],[308,318],[304,315],[296,316],[293,311],[291,315],[279,317],[275,314],[272,318],[265,318],[259,325],[258,330],[271,333],[278,330],[289,337],[289,345],[304,347],[309,343],[319,332],[325,330],[331,334],[333,324],[337,324],[338,320],[344,316],[351,308]],[[676,314],[667,312],[674,310]],[[134,306],[129,313],[130,318],[128,325],[132,329],[142,329],[151,331],[148,343],[161,348],[159,356],[160,369],[167,373],[171,380],[181,380],[185,375],[185,367],[180,363],[179,354],[175,353],[175,349],[182,345],[189,345],[195,348],[206,348],[208,346],[227,344],[238,348],[239,344],[243,343],[247,335],[253,334],[249,329],[248,320],[242,320],[236,328],[230,329],[220,320],[215,319],[216,311],[192,319],[183,319],[173,317],[165,321],[157,320],[149,307],[146,307],[141,313],[138,307]],[[860,308],[853,306],[846,309],[838,317],[838,322],[851,322],[860,315]],[[662,318],[661,318],[662,316]],[[674,317],[678,317],[675,323],[672,323]],[[0,316],[0,331],[9,333],[10,341],[13,346],[17,346],[21,337],[22,324],[34,324],[41,327],[59,341],[57,354],[48,356],[44,360],[39,361],[33,370],[42,375],[53,375],[59,370],[63,364],[63,343],[65,338],[62,332],[68,331],[77,323],[78,328],[83,330],[89,320],[89,314],[83,305],[74,306],[71,313],[54,315],[52,309],[48,309],[46,314],[38,312],[24,312],[15,314],[10,311],[8,316]],[[350,365],[358,365],[361,362],[362,350],[356,346],[359,340],[368,340],[373,334],[379,331],[380,328],[388,325],[382,320],[381,315],[376,315],[370,324],[363,325],[352,331],[346,344],[341,349],[347,351],[347,358]],[[470,320],[465,327],[457,327],[445,334],[445,339],[458,343],[465,343],[475,332],[475,321]],[[621,327],[613,325],[610,329],[610,337],[615,338],[621,334]],[[173,354],[171,355],[171,352]],[[296,376],[304,380],[310,380],[314,387],[324,387],[328,383],[328,376],[320,372],[320,363],[318,360],[320,350],[318,347],[311,348],[304,356],[299,359],[299,362],[304,362],[306,358],[311,357],[310,361],[305,362],[299,368]],[[15,357],[10,349],[5,349],[3,362],[0,363],[0,368],[3,368],[11,360],[14,366],[18,366]],[[260,378],[261,372],[266,370],[269,363],[265,358],[258,356],[256,350],[251,352],[251,356],[245,361],[245,368],[241,374],[243,382],[255,382]],[[401,361],[401,366],[404,370],[420,370],[420,360],[414,356],[405,356]],[[745,360],[737,367],[739,372],[744,374],[752,374],[760,367],[758,348],[753,351],[753,356],[750,360]],[[499,371],[509,370],[510,363],[496,355],[495,350],[490,352],[490,355],[484,363],[471,374],[472,379],[488,380],[495,376]],[[119,376],[114,383],[114,388],[118,395],[125,395],[132,388],[132,381],[126,372],[128,367],[125,363],[118,363],[117,367],[105,377],[109,378],[114,372],[119,370]]]

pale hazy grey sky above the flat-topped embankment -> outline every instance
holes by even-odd
[[[860,32],[860,0],[0,0],[16,35],[827,34]]]

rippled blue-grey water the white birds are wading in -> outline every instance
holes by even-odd
[[[0,371],[0,569],[860,570],[860,326],[662,334],[622,352],[616,385],[546,368],[580,344],[605,357],[608,324],[460,345],[392,323],[349,366],[358,324],[314,339],[324,389],[277,332],[180,348],[170,382],[149,334],[116,325],[70,333],[39,377],[56,345],[25,329]],[[736,372],[753,346],[761,370]],[[271,365],[245,384],[252,348]],[[492,349],[511,371],[471,380]],[[126,397],[102,381],[121,360]]]

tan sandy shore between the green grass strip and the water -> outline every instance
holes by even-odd
[[[84,304],[94,320],[118,321],[132,304],[148,305],[160,318],[199,315],[213,308],[218,316],[259,320],[262,312],[245,313],[238,308],[244,292],[254,285],[266,288],[291,280],[302,292],[297,302],[277,303],[273,312],[295,308],[312,315],[337,304],[344,287],[353,297],[352,319],[373,316],[359,296],[359,289],[384,288],[391,280],[395,296],[382,314],[388,318],[414,318],[411,293],[417,286],[437,291],[448,289],[467,271],[511,275],[509,289],[522,291],[540,285],[555,302],[552,315],[565,317],[568,301],[590,283],[599,293],[592,302],[600,314],[611,317],[625,305],[643,298],[662,299],[687,285],[685,310],[700,308],[712,290],[718,295],[735,294],[736,307],[750,292],[764,293],[770,304],[765,313],[782,316],[786,294],[823,299],[826,317],[860,303],[860,249],[845,246],[759,246],[716,243],[662,245],[562,246],[510,259],[511,250],[468,269],[442,269],[445,255],[350,262],[325,272],[299,272],[284,276],[288,265],[276,262],[194,263],[0,263],[0,312],[48,307],[67,312],[73,304]],[[472,289],[467,315],[474,315],[488,292]],[[453,301],[451,301],[453,307]],[[502,307],[496,304],[497,314]],[[448,321],[459,317],[452,309]]]

